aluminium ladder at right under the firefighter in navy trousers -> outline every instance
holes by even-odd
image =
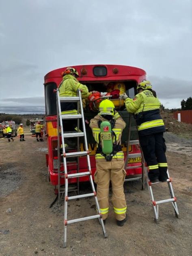
[[[127,141],[127,149],[129,147],[129,145],[139,144],[139,140],[133,140],[133,141],[130,140],[130,133],[131,133],[132,130],[137,130],[137,127],[131,127],[131,114],[130,114],[130,116],[129,116],[129,135],[128,135],[128,141]],[[140,166],[142,166],[142,189],[144,189],[144,182],[145,182],[144,177],[145,177],[146,181],[147,181],[147,187],[149,189],[150,199],[151,199],[151,202],[152,202],[153,213],[154,213],[154,221],[156,223],[158,223],[158,221],[159,221],[159,204],[163,204],[163,203],[167,203],[167,202],[171,202],[172,203],[174,211],[175,211],[175,217],[177,217],[179,219],[179,210],[177,208],[177,203],[176,203],[177,198],[174,195],[174,191],[173,191],[173,187],[172,187],[172,183],[171,183],[172,180],[171,180],[171,178],[169,176],[168,170],[167,170],[168,179],[167,179],[166,182],[168,184],[168,188],[169,188],[169,192],[170,192],[170,198],[164,199],[164,200],[155,201],[154,195],[153,195],[152,185],[159,184],[159,183],[162,183],[162,182],[152,183],[149,180],[149,177],[148,177],[149,169],[147,167],[147,163],[145,162],[145,158],[144,158],[144,155],[143,155],[143,152],[142,152],[142,148],[140,148],[140,150],[141,150],[140,154],[129,154],[129,150],[127,150],[127,158],[126,158],[126,161],[125,161],[125,167],[127,167],[128,159],[133,157],[133,155],[135,155],[135,157],[137,155],[141,156],[141,165]],[[127,169],[131,169],[131,168],[135,168],[135,166],[134,167],[127,167]],[[144,174],[145,174],[145,176],[144,176]],[[129,180],[135,180],[135,179],[137,179],[137,178],[127,179],[127,180],[129,181]]]

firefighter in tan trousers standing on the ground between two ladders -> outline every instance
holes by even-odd
[[[123,226],[126,221],[126,200],[123,189],[126,172],[124,170],[124,154],[121,150],[121,135],[126,124],[118,112],[114,110],[110,100],[103,100],[99,104],[99,114],[90,121],[93,137],[97,142],[95,155],[96,172],[94,176],[97,184],[97,197],[101,214],[105,220],[109,212],[109,184],[112,184],[112,204],[118,226]],[[101,126],[103,121],[110,124],[112,152],[104,153]],[[107,127],[107,126],[106,126]]]

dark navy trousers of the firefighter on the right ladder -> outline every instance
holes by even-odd
[[[147,136],[139,136],[139,142],[149,167],[149,179],[166,180],[167,177],[167,159],[166,145],[163,138],[163,132]]]

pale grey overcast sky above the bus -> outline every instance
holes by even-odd
[[[0,0],[0,112],[43,113],[52,69],[145,69],[166,108],[192,96],[191,0]]]

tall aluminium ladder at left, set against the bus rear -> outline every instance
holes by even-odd
[[[64,203],[64,240],[63,240],[63,247],[65,248],[67,246],[67,225],[79,221],[85,221],[89,219],[98,219],[99,223],[101,224],[101,228],[103,230],[104,237],[107,237],[104,221],[102,219],[101,210],[99,208],[99,203],[97,200],[97,193],[95,191],[95,187],[93,184],[93,178],[92,178],[92,172],[91,172],[91,163],[89,158],[89,150],[88,150],[88,143],[86,138],[86,129],[85,129],[85,122],[84,122],[84,113],[83,113],[83,104],[82,104],[82,98],[81,98],[81,91],[78,90],[78,96],[77,97],[60,97],[58,89],[56,90],[56,98],[57,98],[57,127],[58,127],[58,189],[60,187],[60,133],[61,133],[61,140],[62,140],[62,151],[63,154],[61,156],[63,157],[63,164],[64,164],[64,177],[65,177],[65,203]],[[62,115],[61,114],[61,102],[76,102],[78,107],[78,113],[76,115]],[[63,132],[63,122],[64,119],[78,119],[78,129],[77,132]],[[82,119],[82,127],[83,132],[79,130],[79,121]],[[60,131],[59,131],[59,125],[60,125]],[[84,143],[86,151],[80,151],[79,148],[79,138],[84,137]],[[77,152],[66,152],[65,150],[65,138],[78,138],[78,148]],[[80,157],[80,156],[86,156],[87,158],[87,165],[88,165],[88,171],[85,172],[77,172],[75,174],[68,174],[67,172],[67,158],[70,157]],[[68,196],[68,179],[70,178],[79,178],[83,176],[88,176],[89,181],[91,183],[92,187],[92,193],[87,193],[83,195],[75,195],[75,196]],[[60,192],[60,191],[59,191]],[[60,195],[60,193],[59,193]],[[80,199],[84,197],[94,197],[95,198],[95,204],[97,208],[97,214],[87,217],[81,217],[78,219],[71,219],[67,220],[67,204],[69,200],[73,199]]]

